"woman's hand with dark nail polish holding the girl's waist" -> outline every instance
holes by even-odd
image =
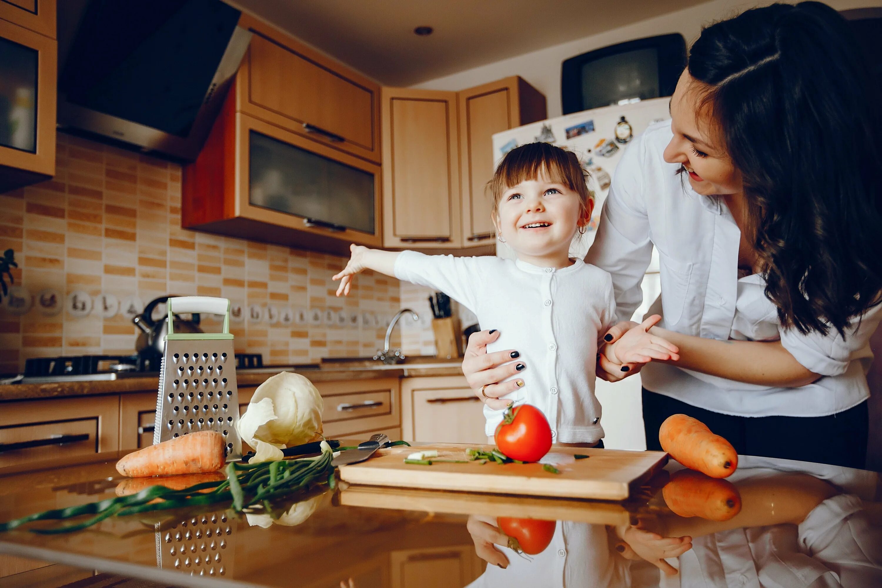
[[[475,391],[475,396],[494,410],[502,410],[509,401],[502,399],[512,391],[524,385],[521,379],[499,383],[509,376],[527,368],[523,361],[512,361],[520,354],[513,349],[487,353],[487,345],[499,339],[499,331],[478,331],[468,338],[466,353],[462,358],[462,373],[468,385]],[[483,387],[483,394],[482,389]],[[486,398],[485,398],[486,396]]]

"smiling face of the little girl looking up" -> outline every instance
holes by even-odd
[[[587,225],[593,208],[589,201],[583,210],[579,194],[541,174],[505,190],[494,220],[519,259],[560,267],[569,264],[572,236]]]

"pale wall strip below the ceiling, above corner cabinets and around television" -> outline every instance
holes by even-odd
[[[622,10],[627,10],[624,3]],[[560,104],[560,65],[572,56],[586,51],[606,47],[622,41],[631,41],[655,34],[681,33],[687,43],[694,41],[701,32],[701,26],[736,15],[753,6],[772,4],[768,1],[740,2],[736,0],[714,0],[698,4],[682,11],[669,12],[654,19],[642,20],[632,25],[568,41],[553,47],[539,49],[532,53],[510,57],[502,61],[488,63],[471,70],[460,71],[444,78],[431,79],[415,88],[429,90],[462,90],[479,86],[507,76],[520,76],[545,94],[548,99],[549,118],[563,114]],[[826,4],[836,10],[882,6],[882,0],[826,0]],[[512,32],[512,42],[517,43],[518,33]]]

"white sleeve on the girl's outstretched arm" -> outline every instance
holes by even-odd
[[[478,288],[482,279],[487,279],[482,275],[481,259],[401,251],[395,260],[395,277],[440,290],[477,314]]]

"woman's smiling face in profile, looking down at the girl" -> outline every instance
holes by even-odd
[[[664,150],[664,160],[681,164],[689,176],[692,190],[702,196],[736,194],[744,190],[725,145],[702,108],[701,82],[683,71],[670,99],[670,128],[674,138]]]

